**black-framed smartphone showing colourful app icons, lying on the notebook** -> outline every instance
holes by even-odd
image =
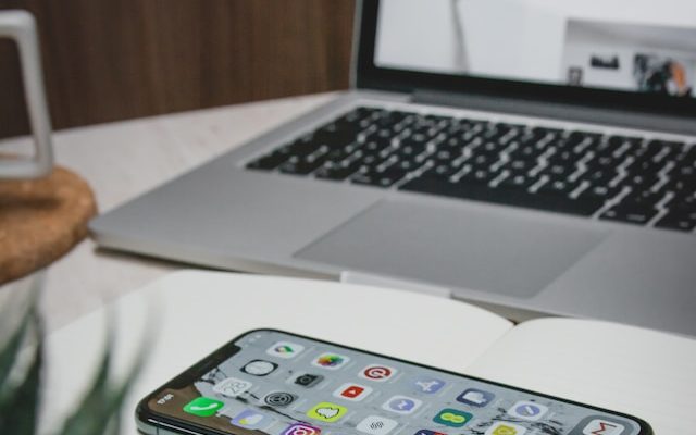
[[[233,339],[136,418],[158,435],[652,434],[619,412],[273,330]]]

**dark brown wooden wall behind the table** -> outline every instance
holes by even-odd
[[[54,128],[348,86],[353,0],[0,0],[41,32]],[[0,40],[0,137],[27,132]]]

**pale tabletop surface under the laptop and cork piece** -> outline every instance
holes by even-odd
[[[58,163],[85,177],[100,211],[335,98],[334,94],[231,105],[57,132]],[[28,146],[0,141],[0,151]],[[48,331],[181,265],[99,251],[84,240],[52,264],[44,294]]]

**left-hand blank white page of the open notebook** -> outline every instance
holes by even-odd
[[[424,364],[460,371],[512,327],[485,310],[449,299],[322,281],[217,272],[179,272],[115,303],[120,364],[144,334],[148,300],[159,333],[148,365],[126,402],[124,434],[145,395],[237,335],[272,327]],[[50,336],[42,433],[75,402],[101,349],[104,312]]]

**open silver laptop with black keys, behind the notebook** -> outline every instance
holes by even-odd
[[[349,91],[98,244],[696,336],[695,2],[364,0],[355,34]]]

